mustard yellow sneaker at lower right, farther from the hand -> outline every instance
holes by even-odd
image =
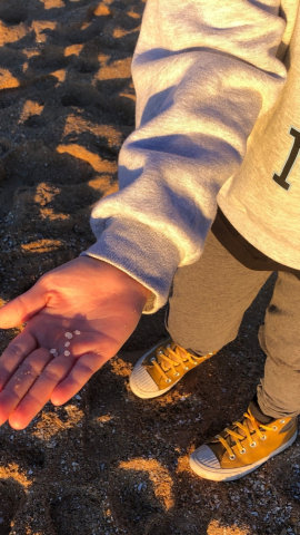
[[[287,449],[297,437],[297,418],[279,418],[266,425],[244,412],[190,457],[191,469],[206,479],[231,481],[250,474]]]

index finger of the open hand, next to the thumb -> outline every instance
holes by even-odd
[[[4,388],[24,358],[37,349],[37,341],[29,331],[22,331],[7,347],[0,358],[0,391]]]

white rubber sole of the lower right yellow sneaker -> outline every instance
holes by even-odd
[[[233,481],[236,479],[240,479],[247,474],[250,474],[251,471],[254,471],[257,468],[263,465],[263,463],[271,459],[272,457],[280,454],[281,451],[284,451],[284,449],[287,449],[289,446],[292,445],[296,438],[297,438],[297,431],[288,442],[283,444],[280,448],[276,449],[263,459],[260,459],[257,463],[253,463],[252,465],[248,465],[240,468],[231,468],[231,469],[211,468],[202,464],[197,457],[197,451],[201,449],[201,446],[200,446],[200,448],[196,449],[190,456],[190,467],[198,476],[203,477],[204,479],[210,479],[212,481]]]

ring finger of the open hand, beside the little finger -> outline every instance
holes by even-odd
[[[49,362],[40,377],[9,417],[14,429],[23,429],[51,398],[57,385],[63,380],[76,362],[74,358],[60,356]]]

